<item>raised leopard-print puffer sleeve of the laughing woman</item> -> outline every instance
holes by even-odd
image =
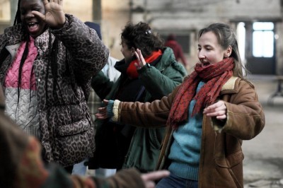
[[[66,14],[66,23],[59,30],[51,30],[71,56],[77,76],[90,80],[108,61],[109,50],[95,30],[88,28],[78,18]]]

